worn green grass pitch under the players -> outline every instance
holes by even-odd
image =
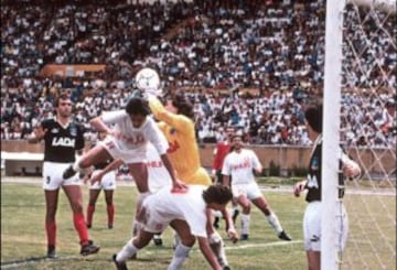
[[[224,231],[224,223],[221,223],[218,231],[225,239],[229,266],[234,270],[307,269],[302,244],[304,196],[296,198],[291,192],[276,192],[276,190],[267,191],[265,194],[278,215],[281,225],[292,236],[293,241],[279,240],[266,218],[254,206],[250,239],[248,241],[239,241],[235,245],[228,241]],[[79,256],[77,233],[73,226],[72,212],[64,193],[61,192],[56,216],[58,259],[49,260],[44,257],[46,252],[45,205],[41,184],[37,184],[37,182],[28,184],[1,183],[1,269],[115,269],[110,258],[130,238],[136,196],[137,191],[133,186],[118,186],[115,192],[116,218],[114,229],[107,228],[105,199],[103,194],[99,196],[89,237],[100,245],[101,249],[97,255],[82,257]],[[87,201],[88,188],[85,186],[85,207]],[[354,204],[354,201],[350,199],[347,202],[347,210],[348,205]],[[395,206],[395,197],[390,196],[387,201],[390,207]],[[383,222],[388,223],[388,220]],[[352,228],[357,226],[354,223],[352,224],[352,220],[351,225]],[[384,224],[384,226],[388,228],[387,224]],[[238,219],[237,229],[239,227]],[[394,230],[389,229],[387,234],[391,234],[388,245],[395,247],[395,228]],[[354,236],[354,231],[352,235]],[[354,237],[360,238],[360,236]],[[373,237],[376,238],[376,236]],[[164,231],[163,242],[164,246],[161,248],[150,244],[138,253],[137,260],[128,262],[128,267],[130,269],[167,269],[173,255],[172,233],[170,229]],[[372,250],[360,252],[361,258],[373,253]],[[385,258],[389,257],[390,255],[385,256]],[[386,260],[386,263],[385,269],[395,269],[396,267],[393,259]],[[194,246],[183,269],[210,269],[197,246]],[[356,269],[360,269],[360,267]]]

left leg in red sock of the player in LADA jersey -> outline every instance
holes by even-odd
[[[47,258],[56,258],[56,209],[60,190],[44,191],[45,195],[45,231],[47,237]]]

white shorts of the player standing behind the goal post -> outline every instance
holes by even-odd
[[[308,204],[303,216],[303,244],[308,251],[321,251],[321,212],[322,204],[319,201]],[[348,233],[347,213],[343,204],[341,204],[341,217],[337,226],[335,244],[342,251],[346,246]]]

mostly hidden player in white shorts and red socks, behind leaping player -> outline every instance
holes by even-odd
[[[98,132],[98,141],[103,141],[106,137],[105,132]],[[90,174],[92,185],[89,186],[89,202],[87,206],[87,227],[90,228],[93,225],[93,216],[95,212],[95,204],[98,199],[100,190],[104,190],[105,201],[106,201],[106,210],[108,214],[108,228],[112,229],[114,219],[115,219],[115,205],[114,205],[114,192],[116,190],[116,172],[115,170],[107,173],[103,173],[108,164],[112,162],[112,159],[109,159],[105,162],[99,162],[94,164],[94,171]],[[122,160],[121,160],[122,163]]]

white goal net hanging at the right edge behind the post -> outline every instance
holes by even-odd
[[[396,3],[351,0],[334,20],[343,22],[337,136],[363,173],[357,180],[345,181],[347,244],[343,252],[331,251],[336,252],[336,262],[326,269],[396,269]],[[326,64],[324,76],[326,83]],[[325,91],[326,86],[324,104]],[[326,116],[324,121],[326,127]],[[337,204],[331,205],[337,216]],[[337,230],[336,225],[322,231],[322,236],[331,236],[326,239],[333,239],[331,247],[337,241]],[[322,263],[330,255],[322,249]]]

